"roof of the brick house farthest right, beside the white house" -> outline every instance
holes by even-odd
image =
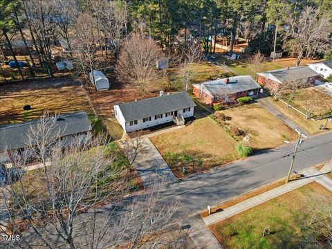
[[[291,68],[283,68],[274,71],[264,72],[264,74],[270,73],[277,78],[280,82],[293,82],[295,80],[307,79],[308,77],[315,77],[320,75],[313,71],[308,66],[295,66]]]

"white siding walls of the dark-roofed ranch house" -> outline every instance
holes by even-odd
[[[118,110],[120,110],[120,109],[118,109]],[[119,113],[120,113],[120,111],[118,111],[118,115],[119,115]],[[155,119],[155,116],[151,116],[151,121],[147,121],[147,122],[143,122],[143,120],[137,120],[138,121],[137,124],[133,124],[133,125],[130,125],[129,122],[126,122],[124,131],[126,131],[126,132],[139,131],[141,129],[147,129],[149,127],[154,127],[158,124],[165,124],[167,122],[173,122],[172,115],[166,117],[165,113],[162,113],[162,114],[163,114],[163,118],[158,118],[157,120]],[[190,111],[186,111],[185,113],[183,113],[183,109],[178,110],[178,114],[182,114],[183,118],[190,118],[190,117],[194,116],[194,107],[190,107]],[[123,118],[123,116],[122,116],[122,118]],[[146,117],[146,118],[148,118],[148,117]],[[122,121],[121,118],[120,118],[120,120],[117,118],[117,120],[119,121],[119,123]],[[123,118],[123,120],[124,120],[124,118]],[[122,124],[121,124],[121,126],[122,126]],[[123,128],[123,126],[122,126],[122,128]]]

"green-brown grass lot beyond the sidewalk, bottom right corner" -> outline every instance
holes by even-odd
[[[317,220],[326,218],[320,211],[331,201],[329,190],[310,183],[211,225],[210,229],[225,248],[298,248],[309,237],[324,243],[325,238],[320,236],[324,230]],[[313,219],[314,214],[317,219]],[[262,237],[267,226],[270,235]]]

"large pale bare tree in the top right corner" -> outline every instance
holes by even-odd
[[[299,66],[304,53],[324,52],[331,48],[332,26],[327,15],[320,10],[306,7],[301,14],[289,21],[284,37],[284,49],[297,56]]]

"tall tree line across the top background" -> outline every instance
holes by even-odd
[[[49,77],[58,41],[86,75],[118,59],[133,33],[167,55],[187,43],[212,54],[216,40],[232,52],[239,38],[248,42],[248,53],[284,49],[297,65],[303,56],[331,55],[331,0],[0,0],[0,10],[1,44],[17,63],[12,39],[19,37],[31,71],[38,65]]]

